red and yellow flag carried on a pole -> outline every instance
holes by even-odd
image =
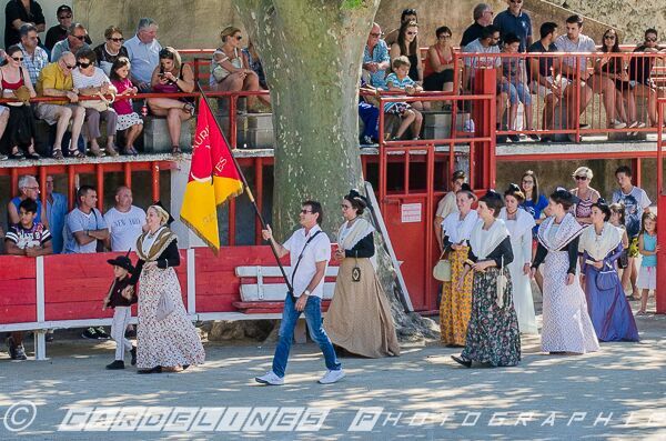
[[[243,181],[229,144],[206,100],[202,99],[181,220],[216,253],[220,250],[216,208],[242,192]]]

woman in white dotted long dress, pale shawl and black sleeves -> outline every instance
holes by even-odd
[[[578,239],[584,225],[568,212],[578,199],[557,189],[548,200],[551,217],[538,228],[532,274],[544,264],[542,350],[586,353],[599,349],[578,272]]]

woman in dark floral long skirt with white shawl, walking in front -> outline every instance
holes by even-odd
[[[480,220],[472,230],[470,258],[457,280],[462,288],[465,275],[474,271],[465,349],[460,357],[451,355],[465,368],[473,362],[498,367],[521,361],[521,331],[508,271],[514,255],[508,230],[504,221],[496,219],[503,204],[500,193],[493,190],[478,200]]]

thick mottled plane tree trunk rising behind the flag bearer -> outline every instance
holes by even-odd
[[[307,199],[322,203],[322,227],[334,237],[342,221],[342,197],[362,188],[359,83],[363,49],[380,1],[235,1],[271,88],[275,130],[272,227],[279,240],[293,231],[301,202]],[[393,274],[390,259],[383,248],[377,250],[398,334],[430,335],[420,317],[416,320],[403,312],[394,277],[389,277]]]

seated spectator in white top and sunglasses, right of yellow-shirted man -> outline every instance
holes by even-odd
[[[110,107],[102,96],[109,93],[115,94],[115,87],[111,84],[111,80],[103,70],[95,67],[95,54],[92,49],[83,48],[77,52],[78,68],[72,72],[74,80],[74,89],[81,96],[99,96],[99,100],[81,101],[80,106],[85,108],[85,127],[88,128],[88,144],[90,152],[101,158],[104,152],[100,149],[98,138],[101,136],[100,121],[107,121],[107,153],[117,157],[118,151],[113,146],[115,138],[115,126],[118,124],[118,113]]]

